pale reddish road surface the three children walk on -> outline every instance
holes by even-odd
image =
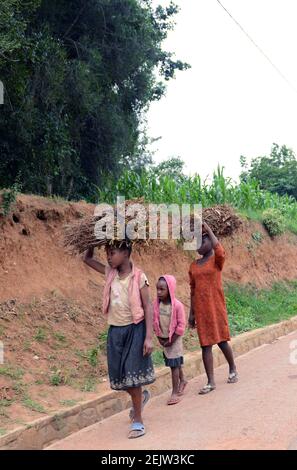
[[[166,406],[168,393],[145,409],[146,436],[128,440],[122,412],[52,445],[50,449],[297,449],[297,332],[237,359],[240,381],[226,384],[227,367],[216,369],[217,390],[197,391],[193,379],[183,401]],[[295,346],[297,348],[297,345]],[[291,360],[290,360],[291,355]]]

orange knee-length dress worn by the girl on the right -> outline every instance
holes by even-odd
[[[222,269],[225,250],[219,243],[214,255],[206,263],[194,261],[189,276],[193,311],[201,346],[230,341],[230,331],[225,296],[222,285]]]

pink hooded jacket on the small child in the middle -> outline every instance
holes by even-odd
[[[171,298],[172,313],[171,322],[169,327],[169,341],[172,336],[176,333],[179,336],[183,336],[186,329],[186,315],[183,304],[175,298],[176,279],[170,274],[162,276],[165,278],[168,290]],[[157,336],[161,335],[160,330],[160,302],[158,299],[154,301],[154,332]]]

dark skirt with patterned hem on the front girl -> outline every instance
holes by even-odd
[[[107,337],[107,361],[113,390],[141,387],[155,381],[151,355],[143,355],[145,321],[135,325],[110,326]]]

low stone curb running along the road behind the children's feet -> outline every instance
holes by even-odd
[[[269,344],[297,330],[297,316],[273,325],[248,331],[232,339],[234,355],[241,356],[263,344]],[[204,372],[201,351],[191,352],[184,357],[184,370],[192,379]],[[219,348],[214,348],[214,366],[224,363]],[[150,385],[152,396],[160,395],[171,388],[171,374],[167,367],[156,370],[156,381]],[[98,398],[82,402],[71,408],[40,418],[0,437],[0,450],[40,450],[64,439],[80,429],[102,421],[127,409],[130,405],[126,393],[107,391]]]

